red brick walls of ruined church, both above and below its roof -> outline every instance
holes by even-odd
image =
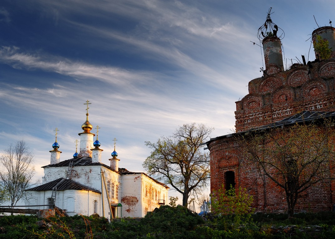
[[[236,132],[262,127],[302,110],[335,111],[335,59],[294,64],[290,70],[254,79],[249,94],[236,102]],[[224,172],[234,171],[236,187],[254,197],[256,211],[287,210],[285,193],[269,178],[262,179],[254,164],[239,149],[237,140],[221,136],[208,144],[211,192],[224,184]],[[335,172],[333,172],[335,174]],[[334,198],[334,199],[333,199]],[[309,188],[299,198],[297,211],[331,210],[335,203],[335,181]]]

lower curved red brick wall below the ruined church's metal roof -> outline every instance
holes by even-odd
[[[267,176],[260,177],[257,167],[242,153],[243,147],[238,142],[235,136],[228,136],[210,143],[211,192],[217,191],[221,186],[224,188],[224,173],[233,171],[236,188],[246,188],[253,195],[252,207],[256,212],[286,211],[284,190]],[[334,180],[310,187],[300,194],[295,211],[330,211],[335,203],[334,189]]]

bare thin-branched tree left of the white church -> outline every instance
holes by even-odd
[[[25,141],[10,144],[0,156],[0,184],[9,195],[11,206],[24,196],[24,190],[30,185],[35,174],[32,165],[34,155],[31,154]]]

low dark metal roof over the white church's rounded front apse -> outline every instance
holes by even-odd
[[[54,187],[57,187],[57,190],[67,190],[67,189],[74,189],[74,190],[85,190],[85,191],[93,191],[97,193],[101,193],[100,191],[87,187],[81,183],[75,182],[71,179],[65,178],[58,178],[54,181],[47,182],[37,187],[32,187],[26,189],[26,191],[46,191],[46,190],[53,190]]]

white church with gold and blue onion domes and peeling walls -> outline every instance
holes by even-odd
[[[101,162],[102,149],[96,136],[90,131],[88,104],[86,121],[81,126],[79,153],[60,161],[59,144],[52,145],[50,164],[43,166],[42,185],[26,190],[29,205],[39,209],[65,210],[67,215],[89,216],[94,213],[106,218],[144,217],[147,212],[167,202],[169,187],[143,172],[130,172],[119,168],[118,154],[112,153],[110,165]],[[99,127],[96,127],[97,134]],[[36,207],[34,207],[36,208]]]

